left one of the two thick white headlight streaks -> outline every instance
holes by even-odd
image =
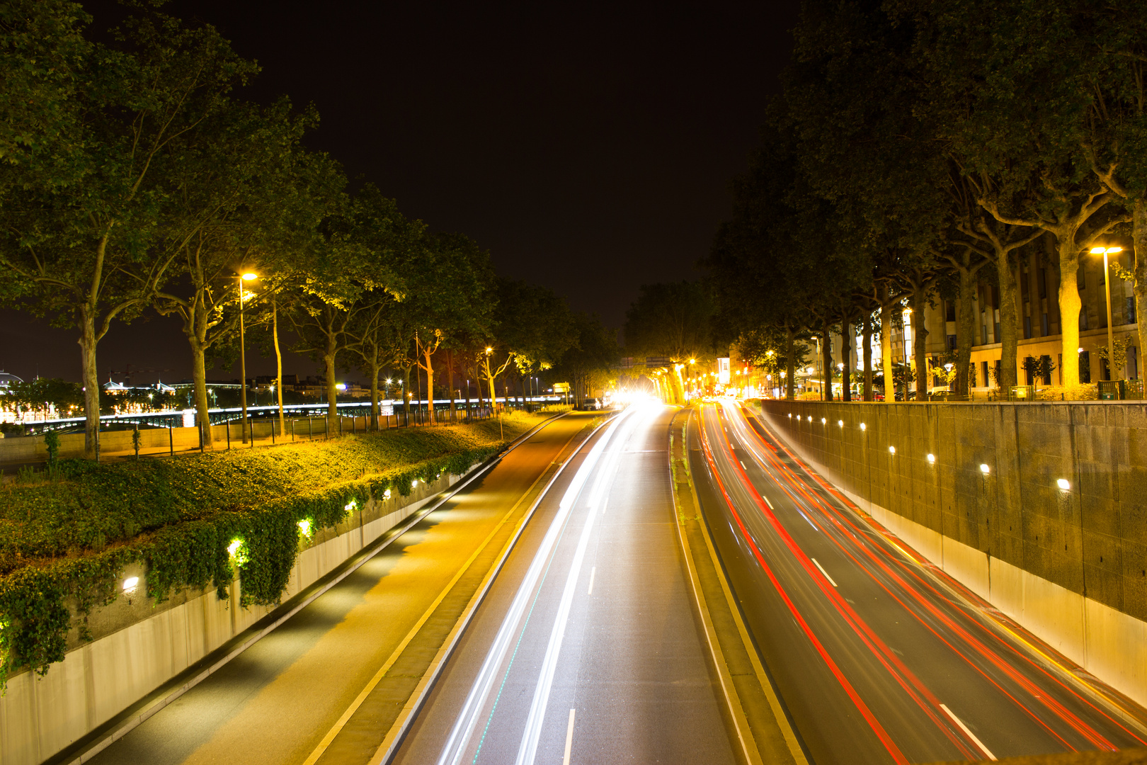
[[[549,555],[557,542],[557,538],[561,536],[561,531],[565,525],[565,518],[569,516],[570,508],[574,506],[574,500],[585,485],[590,473],[596,465],[598,459],[606,448],[606,445],[617,431],[618,424],[627,419],[627,415],[629,411],[623,412],[606,429],[604,435],[602,435],[601,439],[593,445],[590,453],[582,462],[582,466],[578,468],[578,471],[574,475],[574,479],[570,482],[565,494],[562,497],[562,500],[557,506],[554,520],[551,522],[549,529],[546,531],[546,536],[538,546],[538,552],[535,554],[533,561],[531,561],[530,568],[526,570],[525,577],[522,579],[522,584],[518,585],[517,593],[514,595],[514,601],[510,603],[509,610],[506,612],[506,617],[502,619],[501,626],[498,629],[498,635],[490,646],[490,650],[482,664],[482,669],[478,671],[478,676],[475,678],[474,685],[470,687],[470,693],[467,695],[466,703],[458,713],[458,719],[454,721],[454,727],[451,731],[450,739],[447,739],[446,746],[443,748],[442,755],[438,758],[439,765],[458,765],[458,763],[461,762],[462,756],[466,754],[466,749],[470,742],[470,736],[474,735],[474,728],[477,726],[478,718],[482,715],[482,709],[485,707],[486,700],[490,697],[490,692],[493,688],[494,680],[499,674],[499,669],[506,658],[509,647],[514,643],[517,624],[525,612],[525,608],[530,602],[530,596],[532,595],[533,588],[538,583],[538,578],[541,576],[541,571],[545,568],[546,562],[549,560]],[[556,481],[556,478],[557,475],[555,474],[552,481]]]

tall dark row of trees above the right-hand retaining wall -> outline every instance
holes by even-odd
[[[1092,247],[1130,239],[1121,275],[1144,315],[1147,6],[806,0],[794,34],[783,92],[707,261],[715,326],[787,359],[790,397],[797,346],[833,329],[863,335],[864,349],[880,334],[892,380],[905,306],[924,380],[924,307],[937,297],[957,306],[952,388],[966,395],[981,281],[999,295],[999,383],[1016,384],[1019,284],[1037,252],[1059,267],[1063,359],[1076,357],[1076,273]],[[1147,322],[1139,333],[1147,348]],[[820,349],[833,369],[830,344]],[[1062,374],[1078,384],[1075,364]]]

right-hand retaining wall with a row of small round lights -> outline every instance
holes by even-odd
[[[876,521],[1147,704],[1147,405],[764,400],[759,411]]]

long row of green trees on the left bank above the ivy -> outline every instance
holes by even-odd
[[[258,67],[213,28],[141,3],[96,42],[89,21],[67,0],[0,7],[0,300],[78,330],[89,452],[99,344],[146,311],[181,320],[204,424],[206,368],[243,325],[265,328],[280,376],[290,330],[325,369],[331,417],[336,366],[366,374],[377,414],[384,368],[416,366],[432,392],[461,358],[493,398],[507,368],[564,359],[577,376],[616,357],[600,322],[497,278],[474,241],[370,184],[352,193],[303,146],[313,109],[237,95]]]

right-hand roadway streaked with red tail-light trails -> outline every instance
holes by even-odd
[[[689,430],[715,544],[813,762],[1147,741],[1141,708],[863,516],[735,404],[704,406]]]

